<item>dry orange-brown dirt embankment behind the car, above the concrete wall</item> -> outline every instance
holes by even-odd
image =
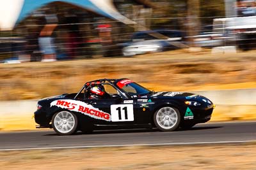
[[[256,87],[256,52],[164,52],[127,58],[0,64],[0,100],[77,92],[98,78],[131,78],[154,90]]]

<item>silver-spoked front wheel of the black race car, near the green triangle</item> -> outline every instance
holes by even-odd
[[[179,110],[171,107],[160,108],[154,114],[154,123],[160,131],[175,131],[175,129],[179,128],[180,124]]]

